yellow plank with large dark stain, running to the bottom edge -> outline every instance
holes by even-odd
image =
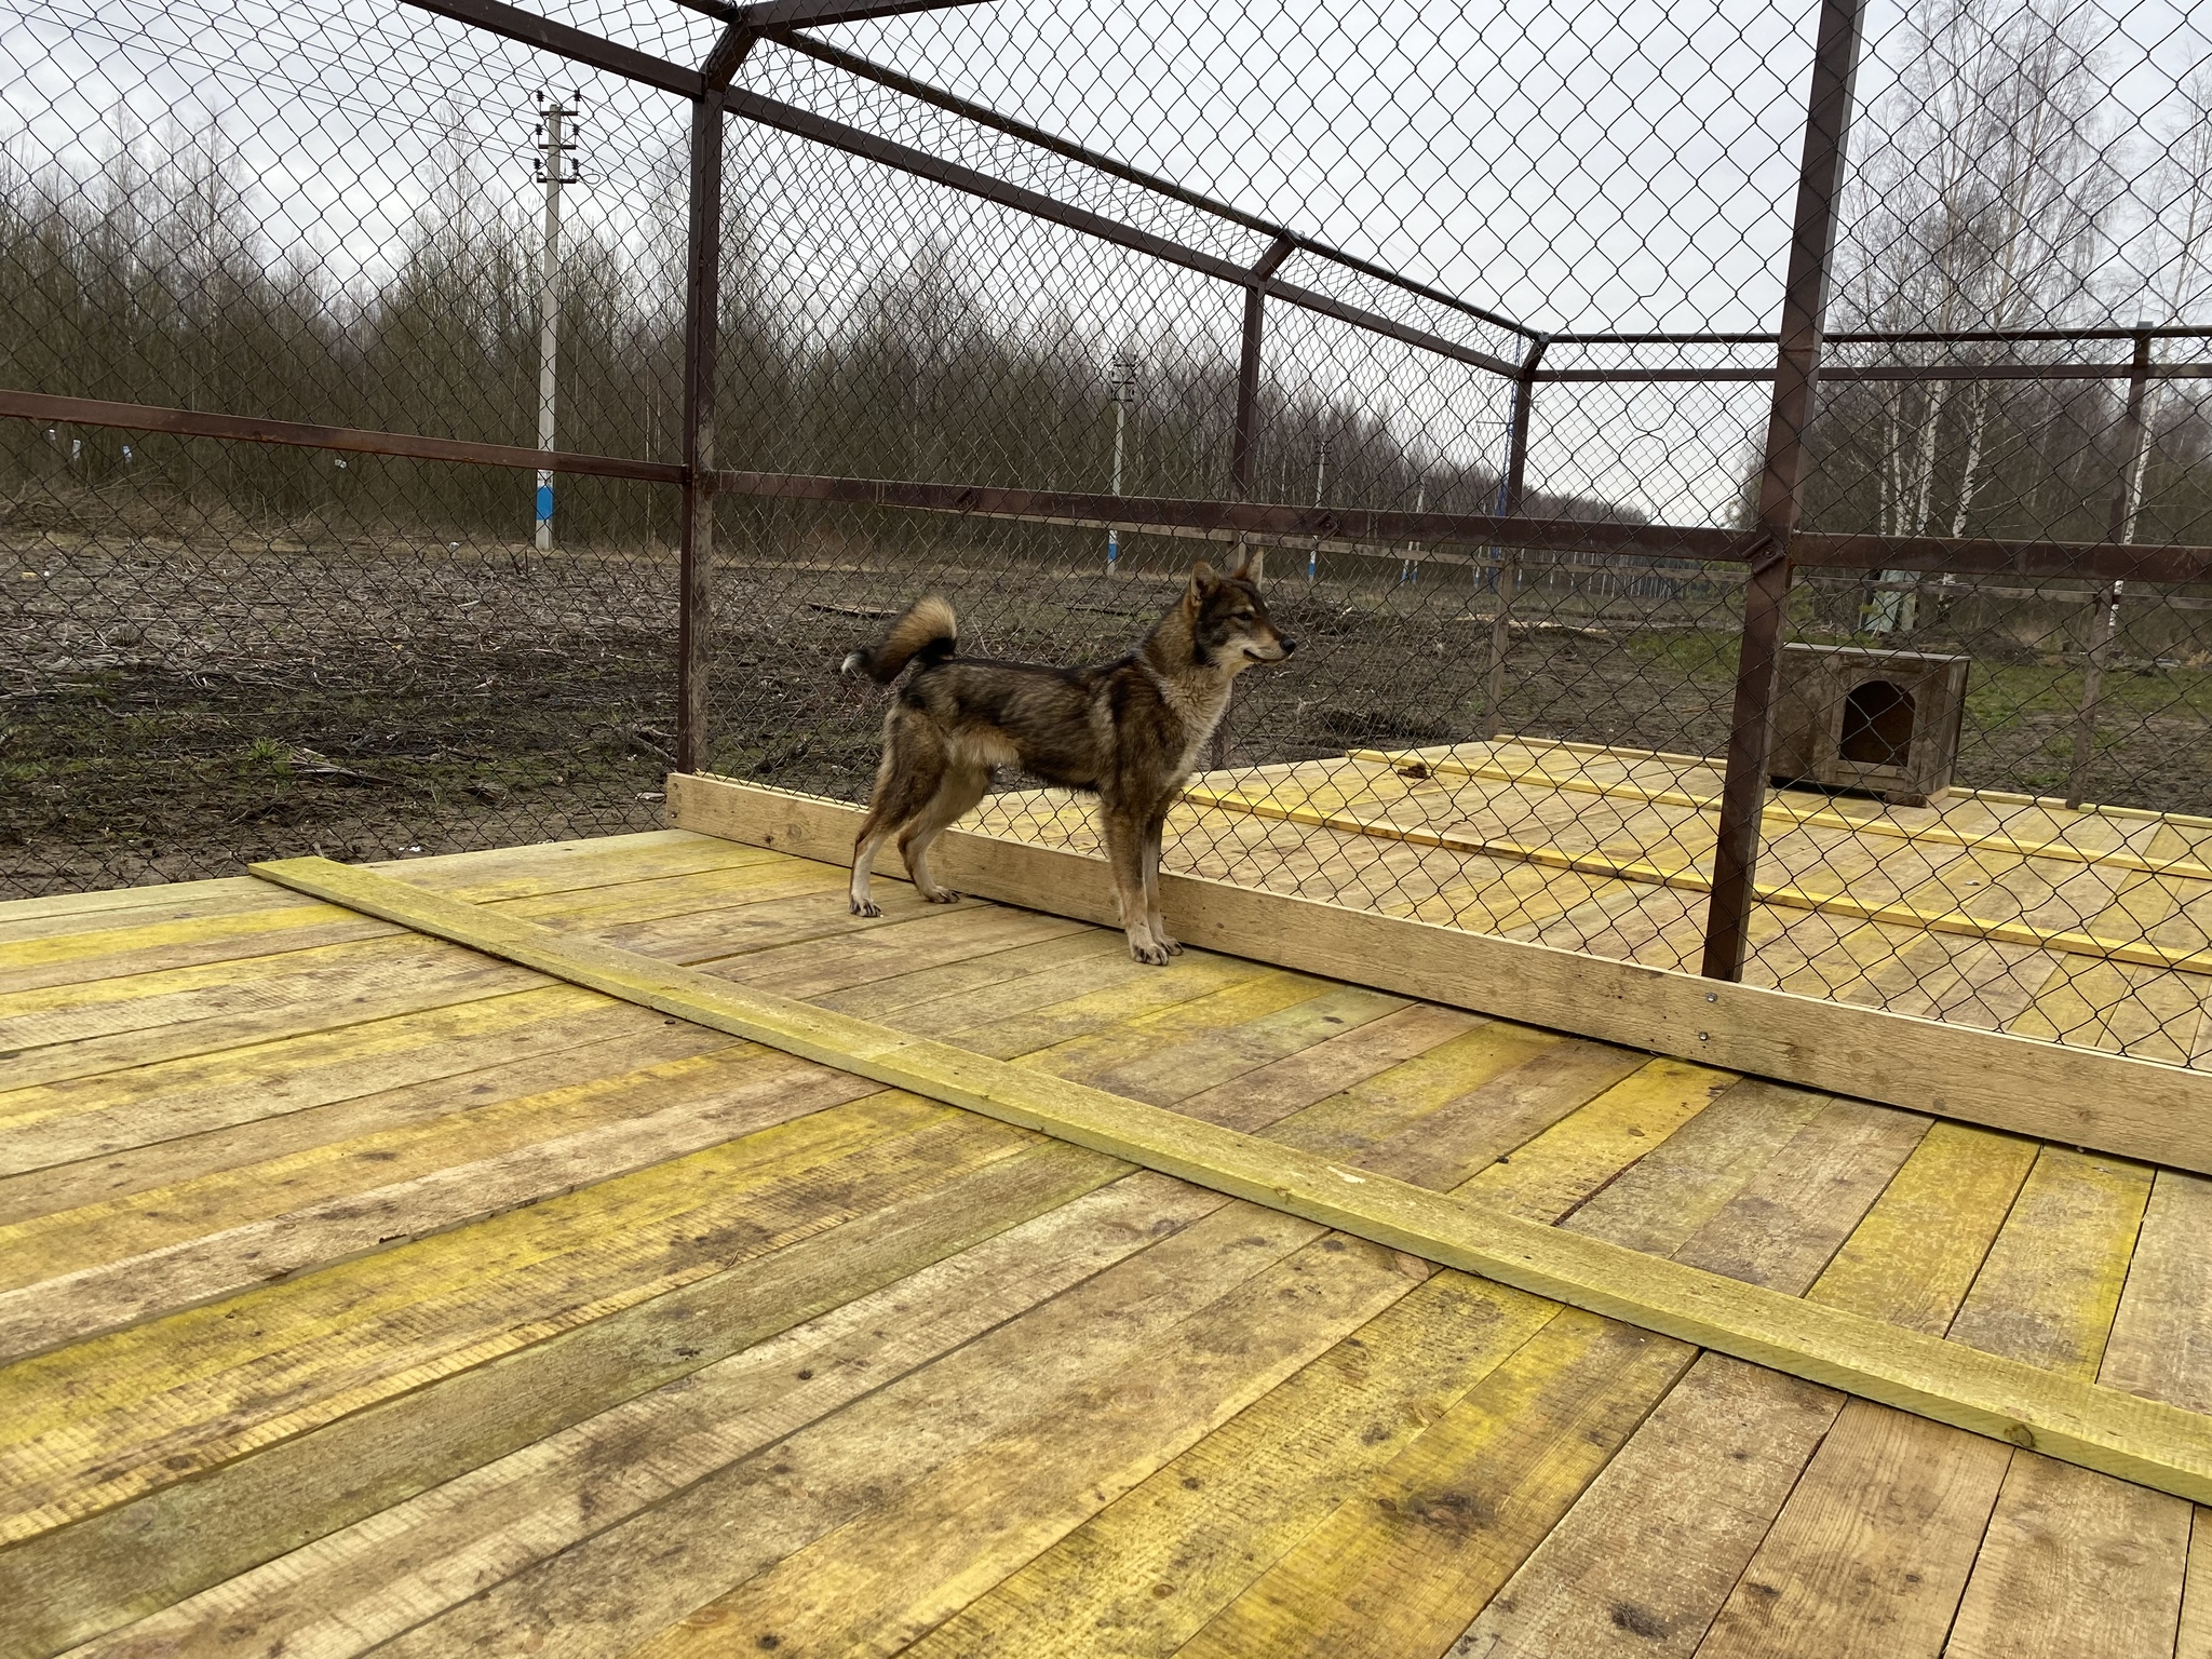
[[[1440,1652],[1692,1356],[1562,1312],[1179,1652]]]

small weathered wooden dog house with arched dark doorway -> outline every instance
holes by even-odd
[[[1783,646],[1776,783],[1865,790],[1924,807],[1951,787],[1969,657]]]

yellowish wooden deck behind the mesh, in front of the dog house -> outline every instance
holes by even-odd
[[[1500,739],[1201,774],[1170,869],[1697,971],[1721,763]],[[991,834],[1093,849],[1060,790]],[[1745,982],[2212,1064],[2212,821],[1772,792]]]

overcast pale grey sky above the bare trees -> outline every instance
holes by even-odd
[[[717,31],[672,0],[546,9],[684,62]],[[1544,330],[1763,330],[1781,299],[1812,18],[1805,0],[1495,11],[998,0],[830,38]],[[2132,137],[2143,157],[2181,119],[2177,86],[2208,58],[2212,0],[2141,0],[2101,27],[2108,137]],[[1907,38],[1891,0],[1876,0],[1867,38],[1860,104],[1878,108]],[[7,0],[0,71],[9,64],[20,73],[0,73],[0,119],[18,161],[88,177],[119,117],[155,131],[221,124],[270,246],[314,248],[352,281],[389,268],[456,155],[493,195],[531,197],[535,86],[584,93],[591,184],[571,197],[573,221],[641,268],[681,232],[677,100],[396,0]],[[748,84],[1208,252],[1259,252],[1248,232],[781,51],[761,51]],[[779,305],[834,312],[872,274],[951,237],[1006,319],[1075,316],[1102,352],[1168,332],[1192,349],[1234,349],[1241,299],[1225,285],[772,135],[739,133],[732,201]],[[1511,341],[1325,268],[1285,274],[1471,345]],[[1418,416],[1438,447],[1498,445],[1504,398],[1491,376],[1334,323],[1274,327],[1283,372],[1376,414]],[[1535,473],[1661,518],[1712,518],[1728,509],[1763,396],[1548,387]]]

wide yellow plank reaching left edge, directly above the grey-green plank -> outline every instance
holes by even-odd
[[[891,1093],[369,1261],[0,1371],[0,1540],[215,1469],[440,1376],[697,1283],[1004,1157],[1022,1137]]]

